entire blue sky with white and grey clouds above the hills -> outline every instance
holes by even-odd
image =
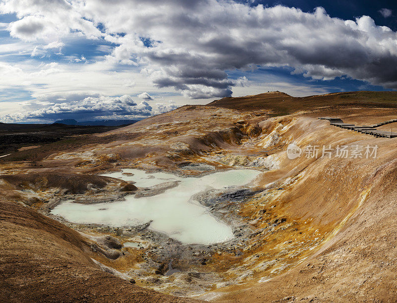
[[[0,121],[397,89],[397,2],[0,0]]]

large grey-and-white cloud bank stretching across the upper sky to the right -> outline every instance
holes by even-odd
[[[29,40],[74,29],[111,41],[117,45],[113,60],[139,66],[155,86],[174,87],[189,98],[229,96],[239,82],[228,79],[227,71],[258,66],[289,66],[314,79],[348,76],[397,89],[396,32],[368,16],[342,20],[321,7],[303,12],[224,0],[61,2],[54,14],[37,3],[5,1],[2,10],[20,17],[9,26],[11,35]],[[385,9],[380,13],[391,16]],[[24,30],[25,23],[41,26],[43,20],[43,31]]]

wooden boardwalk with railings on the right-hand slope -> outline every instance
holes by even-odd
[[[397,131],[392,132],[392,131],[386,131],[386,130],[377,130],[376,127],[386,125],[389,123],[397,122],[397,119],[393,120],[388,120],[388,121],[383,121],[378,124],[372,124],[372,125],[354,125],[354,124],[349,124],[349,123],[343,123],[343,121],[340,118],[330,118],[330,117],[321,117],[319,118],[320,120],[328,120],[330,121],[330,125],[340,127],[340,128],[346,128],[350,130],[354,130],[357,132],[373,135],[376,138],[395,138],[397,137]],[[397,130],[397,129],[396,129]]]

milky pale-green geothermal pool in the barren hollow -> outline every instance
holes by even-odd
[[[132,173],[133,175],[124,175]],[[151,197],[125,197],[125,201],[78,204],[66,201],[52,213],[74,223],[97,223],[109,226],[134,226],[152,220],[150,229],[167,234],[184,244],[211,244],[233,238],[231,228],[193,199],[193,195],[212,188],[243,186],[261,172],[251,169],[217,172],[200,178],[178,177],[167,173],[150,173],[136,169],[102,176],[134,181],[138,187],[179,181],[178,186]]]

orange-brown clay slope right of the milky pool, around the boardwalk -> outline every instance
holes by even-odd
[[[287,233],[278,242],[270,237],[258,241],[253,253],[261,260],[259,264],[266,267],[261,279],[207,293],[203,299],[222,302],[394,300],[397,291],[394,278],[397,270],[397,140],[377,139],[335,128],[328,121],[317,119],[324,116],[366,124],[397,118],[397,112],[356,105],[317,109],[316,113],[302,111],[260,122],[263,133],[254,144],[268,149],[273,160],[278,161],[279,169],[261,176],[259,183],[262,188],[268,188],[268,192],[251,205],[243,206],[242,212],[264,219],[269,209],[278,213],[281,210],[287,222],[297,226],[297,231]],[[334,150],[331,159],[328,155],[321,158],[321,150],[318,159],[302,155],[289,160],[286,146],[293,142],[302,148],[308,145],[328,148],[331,144]],[[378,155],[376,159],[350,158],[351,155],[336,158],[337,145],[348,145],[349,149],[354,145],[377,145]],[[311,232],[316,235],[309,237]],[[305,242],[314,245],[299,254]],[[291,253],[299,258],[293,268],[284,271],[283,266],[293,261]],[[277,264],[274,260],[278,265],[274,266]],[[258,265],[253,270],[257,268]]]

